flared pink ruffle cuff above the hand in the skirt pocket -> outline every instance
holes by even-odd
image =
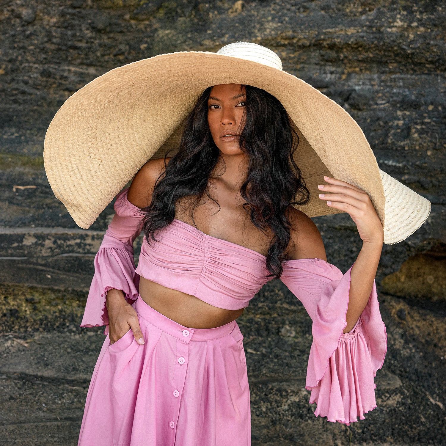
[[[132,250],[128,247],[99,248],[95,256],[95,275],[91,281],[81,327],[108,325],[105,305],[108,290],[122,290],[126,300],[132,303],[138,297],[138,288],[139,275],[135,273]]]

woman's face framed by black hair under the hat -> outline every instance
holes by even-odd
[[[207,101],[207,122],[215,145],[226,155],[243,153],[239,146],[239,135],[245,109],[245,88],[240,84],[222,84],[212,87]]]

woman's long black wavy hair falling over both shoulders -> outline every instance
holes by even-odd
[[[250,85],[242,85],[241,89],[243,87],[246,103],[239,146],[248,155],[248,170],[240,194],[246,200],[243,208],[249,213],[251,222],[264,234],[271,231],[273,235],[266,257],[266,268],[270,273],[267,277],[280,278],[291,238],[286,211],[291,204],[306,204],[310,200],[310,191],[293,159],[299,138],[285,108],[268,92]],[[155,232],[175,218],[178,200],[186,197],[190,200],[192,221],[194,209],[203,195],[213,200],[208,178],[219,161],[220,150],[207,122],[211,89],[208,87],[203,91],[188,116],[179,150],[169,164],[165,154],[165,171],[157,178],[152,202],[141,210],[145,214],[143,231],[149,245],[150,239],[157,241]],[[301,199],[293,201],[297,196]]]

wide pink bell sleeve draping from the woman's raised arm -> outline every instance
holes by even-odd
[[[376,408],[373,378],[387,351],[375,281],[355,327],[343,333],[352,267],[343,274],[326,260],[288,260],[281,276],[313,321],[305,387],[314,414],[346,425]]]

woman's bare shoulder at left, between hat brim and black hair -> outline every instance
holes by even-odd
[[[169,163],[170,159],[166,158],[166,162]],[[139,208],[149,206],[155,182],[164,170],[164,158],[147,161],[132,180],[127,194],[128,201]]]

